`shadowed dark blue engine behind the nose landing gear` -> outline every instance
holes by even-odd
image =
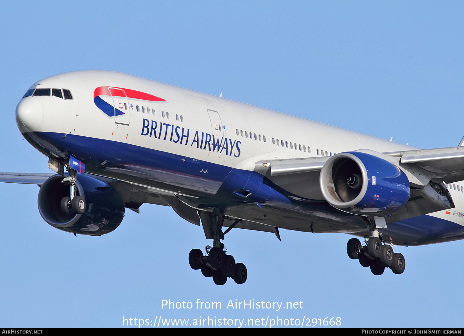
[[[40,216],[53,227],[81,235],[101,236],[116,229],[124,218],[124,202],[116,190],[101,180],[77,174],[77,194],[86,203],[83,214],[61,211],[61,199],[70,194],[70,186],[61,183],[63,176],[53,175],[40,187]]]

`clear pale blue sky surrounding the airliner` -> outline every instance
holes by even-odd
[[[0,171],[50,172],[14,108],[35,81],[105,69],[263,106],[421,148],[464,135],[464,6],[458,1],[5,2]],[[342,327],[462,327],[464,242],[394,247],[406,271],[374,276],[342,234],[234,229],[243,285],[193,271],[210,243],[172,209],[142,205],[100,236],[64,233],[37,186],[0,185],[0,327],[119,327],[126,318],[341,317]],[[221,310],[161,308],[221,302]],[[229,300],[303,309],[232,310]]]

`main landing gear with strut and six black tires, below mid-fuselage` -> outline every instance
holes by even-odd
[[[227,249],[221,240],[240,220],[236,220],[229,228],[222,232],[224,215],[216,212],[200,212],[201,223],[205,230],[206,239],[213,239],[213,247],[206,246],[206,253],[200,249],[193,249],[188,255],[188,262],[193,269],[200,269],[206,277],[213,277],[216,285],[224,285],[227,278],[232,278],[236,283],[243,284],[247,278],[246,267],[242,263],[235,263],[232,255],[227,254]]]

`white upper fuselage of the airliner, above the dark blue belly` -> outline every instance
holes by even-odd
[[[356,149],[372,149],[379,152],[390,152],[414,149],[401,143],[368,136],[366,134],[348,131],[328,124],[275,112],[265,108],[248,105],[226,98],[219,98],[206,93],[200,93],[173,85],[148,80],[133,75],[111,71],[75,71],[54,75],[38,81],[31,88],[67,88],[71,90],[73,99],[63,100],[58,97],[27,97],[18,105],[19,117],[23,125],[21,131],[43,131],[69,133],[85,137],[95,137],[124,143],[130,143],[151,149],[168,151],[179,155],[196,157],[213,163],[219,163],[234,168],[254,168],[254,162],[260,159],[284,159],[317,156],[317,149],[322,156],[327,153],[339,153]],[[165,102],[150,103],[147,100],[129,98],[130,123],[116,124],[114,117],[109,117],[94,104],[94,90],[97,87],[130,88],[160,97]],[[28,100],[39,101],[43,108],[41,123],[34,118],[33,111],[23,111],[22,107]],[[29,103],[31,105],[31,103]],[[136,111],[139,106],[140,112]],[[155,115],[142,113],[142,106],[154,109]],[[190,134],[187,146],[180,143],[153,141],[153,138],[142,136],[142,120],[156,120],[211,133],[211,119],[207,110],[219,113],[223,124],[223,136],[241,142],[240,156],[220,155],[208,150],[200,150],[191,146],[193,134]],[[164,112],[165,117],[161,115]],[[169,113],[169,119],[167,118]],[[29,115],[29,116],[28,116]],[[176,121],[175,116],[183,117],[183,122]],[[29,119],[33,119],[29,121]],[[116,118],[117,120],[117,118]],[[236,134],[238,130],[239,135]],[[157,130],[158,131],[158,130]],[[245,137],[246,133],[256,133],[257,140]],[[163,137],[165,130],[162,130]],[[243,136],[241,133],[243,132]],[[168,139],[171,130],[168,130]],[[200,133],[201,134],[201,133]],[[259,141],[259,136],[265,137]],[[273,144],[272,138],[283,140],[284,147]],[[285,143],[289,143],[288,147]],[[290,142],[302,146],[302,150],[290,148]],[[195,144],[196,145],[196,144]],[[194,146],[195,146],[194,145]],[[310,153],[303,151],[310,148]],[[297,147],[298,148],[298,147]],[[235,152],[234,154],[237,154]],[[321,155],[321,154],[319,154]],[[221,157],[219,157],[221,156]]]

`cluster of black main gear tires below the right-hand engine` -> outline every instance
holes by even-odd
[[[393,253],[389,244],[382,245],[378,237],[370,237],[367,245],[352,238],[348,240],[347,252],[351,259],[358,259],[362,267],[370,267],[374,275],[382,274],[385,268],[390,268],[394,274],[401,274],[406,267],[405,257],[401,253]]]

